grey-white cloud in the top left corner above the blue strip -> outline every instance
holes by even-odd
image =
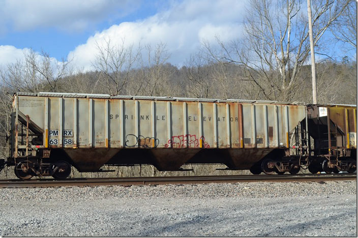
[[[0,0],[0,32],[57,27],[82,31],[89,25],[121,17],[138,7],[138,0]]]

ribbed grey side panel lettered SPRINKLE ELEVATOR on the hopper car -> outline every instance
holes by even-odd
[[[287,148],[305,117],[296,105],[23,96],[18,105],[51,148]]]

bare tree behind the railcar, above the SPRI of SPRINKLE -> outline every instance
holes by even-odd
[[[96,44],[98,54],[93,66],[100,72],[98,81],[104,80],[109,94],[118,95],[128,83],[130,71],[140,52],[140,46],[134,52],[134,45],[126,46],[124,39],[121,45],[112,45],[110,40],[105,40],[104,46]]]

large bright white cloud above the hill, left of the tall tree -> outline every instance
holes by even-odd
[[[167,45],[170,62],[182,65],[191,53],[200,47],[200,41],[209,43],[218,36],[221,40],[232,40],[241,35],[241,26],[246,1],[191,1],[174,3],[169,10],[135,22],[112,25],[88,38],[69,53],[74,63],[84,69],[91,69],[96,55],[96,43],[104,45],[105,40],[119,44],[125,39],[127,45]]]

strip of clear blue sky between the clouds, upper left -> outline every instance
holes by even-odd
[[[13,22],[8,21],[6,22],[6,31],[0,32],[0,45],[13,45],[18,49],[33,48],[38,52],[44,50],[57,59],[66,58],[71,50],[79,44],[84,44],[95,32],[101,32],[113,24],[145,19],[168,7],[167,5],[168,1],[153,3],[136,1],[132,8],[126,9],[128,12],[125,15],[116,16],[115,12],[111,11],[105,17],[88,24],[87,27],[75,30],[58,27],[55,24],[52,26],[40,24],[25,29],[15,29]],[[120,8],[120,6],[117,8]]]

